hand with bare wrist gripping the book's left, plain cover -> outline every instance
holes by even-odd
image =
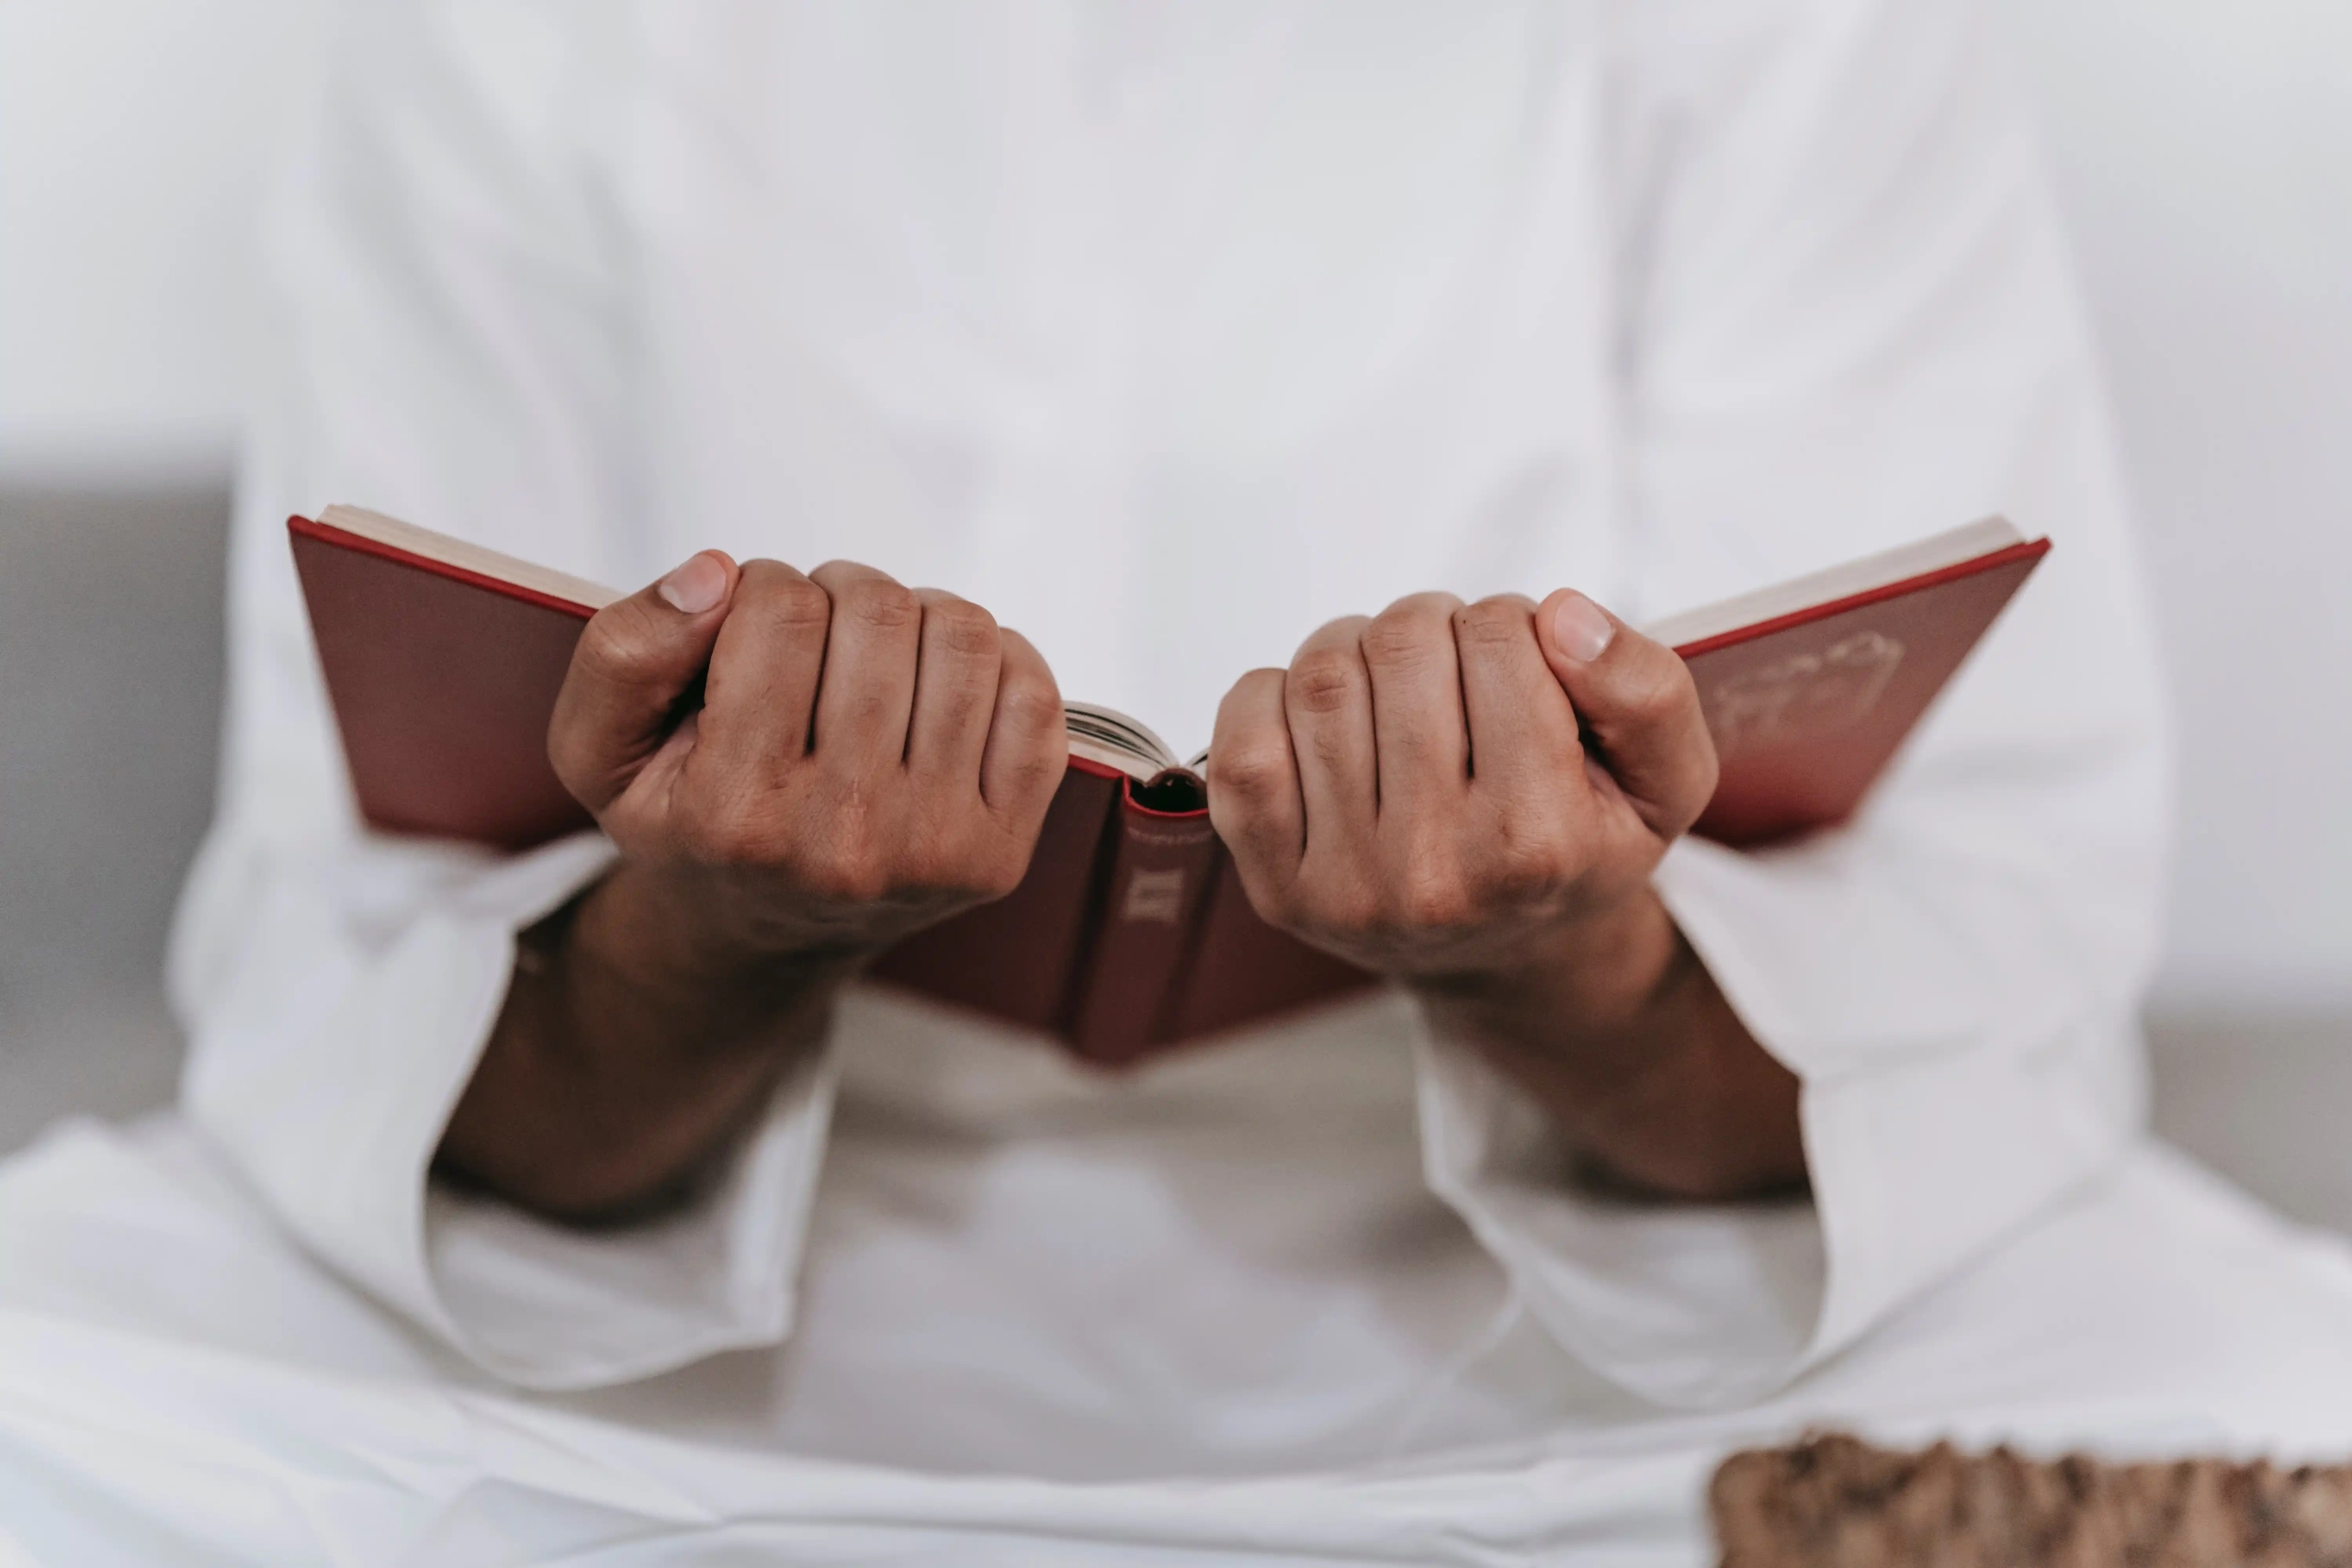
[[[708,1164],[866,957],[1021,882],[1065,731],[988,611],[710,550],[588,623],[548,757],[621,863],[524,936],[440,1166],[600,1218]]]

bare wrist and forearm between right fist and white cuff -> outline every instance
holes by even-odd
[[[1564,931],[1543,961],[1418,990],[1630,1185],[1733,1199],[1804,1180],[1797,1077],[1755,1041],[1656,896]]]

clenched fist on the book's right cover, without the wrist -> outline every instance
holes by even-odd
[[[1463,983],[1665,936],[1651,867],[1715,792],[1672,649],[1581,592],[1442,592],[1331,621],[1225,696],[1209,813],[1272,924]],[[1639,943],[1637,943],[1639,945]]]

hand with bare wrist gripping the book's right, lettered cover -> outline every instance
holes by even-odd
[[[1682,661],[1578,592],[1414,595],[1225,696],[1209,813],[1268,922],[1416,987],[1613,1173],[1802,1178],[1797,1084],[1649,886],[1715,792]]]

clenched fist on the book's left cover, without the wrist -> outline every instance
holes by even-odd
[[[978,604],[717,550],[597,611],[548,729],[713,961],[863,954],[1002,898],[1065,750],[1044,658]]]

